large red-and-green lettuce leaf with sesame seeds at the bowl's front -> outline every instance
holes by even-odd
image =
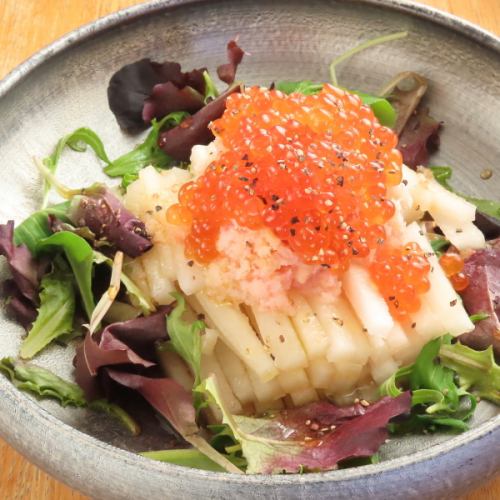
[[[372,456],[387,438],[388,421],[410,407],[410,395],[405,393],[367,408],[359,404],[336,408],[322,402],[272,418],[251,418],[229,413],[213,375],[204,388],[241,444],[249,474],[331,470],[346,458]],[[320,419],[317,430],[306,423],[310,414]]]

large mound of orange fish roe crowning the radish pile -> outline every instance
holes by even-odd
[[[402,158],[359,97],[331,85],[309,96],[251,87],[227,99],[211,128],[225,151],[167,214],[190,226],[189,258],[216,258],[230,221],[271,228],[304,262],[335,271],[384,240]]]

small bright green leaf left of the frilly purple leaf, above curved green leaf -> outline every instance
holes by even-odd
[[[49,215],[55,215],[63,222],[69,222],[67,217],[70,202],[65,201],[52,207],[47,207],[31,214],[14,230],[14,243],[26,245],[33,256],[36,256],[38,242],[52,234],[49,228]]]

